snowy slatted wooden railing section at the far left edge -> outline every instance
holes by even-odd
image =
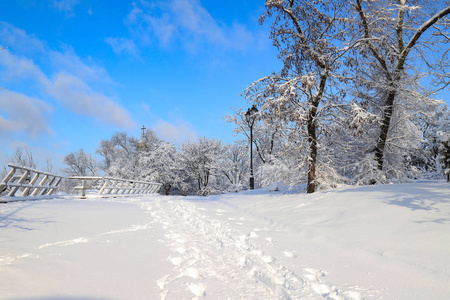
[[[0,182],[0,193],[8,197],[49,196],[58,189],[62,176],[8,164],[11,168]]]

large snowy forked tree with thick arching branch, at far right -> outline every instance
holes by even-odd
[[[362,41],[349,60],[356,70],[356,96],[380,118],[365,157],[375,159],[383,176],[410,176],[409,161],[424,134],[420,122],[431,120],[439,105],[426,84],[430,76],[439,88],[448,84],[449,3],[351,2],[358,16],[353,32]]]

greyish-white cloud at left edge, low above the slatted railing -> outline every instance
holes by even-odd
[[[0,134],[24,132],[33,138],[41,134],[52,134],[49,116],[53,108],[36,98],[0,90]]]

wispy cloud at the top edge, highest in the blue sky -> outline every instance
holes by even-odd
[[[244,24],[218,22],[199,0],[141,0],[133,3],[125,24],[140,47],[179,45],[191,53],[211,47],[247,51],[255,42]]]

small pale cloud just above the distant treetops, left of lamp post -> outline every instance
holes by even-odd
[[[153,126],[153,129],[158,137],[176,145],[182,145],[183,143],[187,143],[189,141],[192,142],[198,140],[197,132],[188,122],[173,124],[160,120],[155,126]]]

